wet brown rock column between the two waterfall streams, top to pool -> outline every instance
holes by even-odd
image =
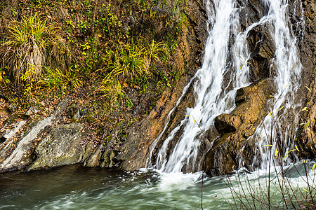
[[[268,9],[263,1],[237,1],[241,31],[258,22]],[[273,27],[268,24],[258,25],[247,34],[247,46],[251,52],[249,63],[249,78],[252,85],[237,90],[236,108],[230,113],[217,116],[214,122],[220,136],[213,141],[204,158],[203,168],[211,176],[229,174],[239,164],[243,157],[251,165],[254,160],[254,141],[246,141],[254,134],[256,127],[268,113],[266,103],[270,94],[275,92],[271,76],[274,74],[272,59],[275,57],[275,43],[271,37]],[[245,144],[246,151],[241,154]],[[249,148],[253,149],[249,149]],[[248,153],[247,153],[248,152]],[[249,155],[249,157],[245,157]]]

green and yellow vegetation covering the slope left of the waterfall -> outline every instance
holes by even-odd
[[[185,3],[2,1],[0,94],[21,113],[71,95],[98,125],[135,103],[146,114],[181,73],[173,55]]]

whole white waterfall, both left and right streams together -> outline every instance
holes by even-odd
[[[251,29],[258,25],[266,24],[270,27],[270,33],[275,41],[276,51],[273,62],[277,67],[275,73],[275,84],[277,92],[274,96],[277,99],[273,106],[272,115],[284,106],[284,114],[294,106],[294,96],[301,71],[301,64],[296,50],[296,40],[291,37],[286,15],[287,4],[282,0],[265,0],[261,2],[269,8],[268,14],[264,15],[258,22],[246,27],[244,31],[238,31],[239,15],[235,0],[213,0],[206,3],[209,18],[209,38],[206,42],[204,62],[201,69],[197,70],[194,78],[194,90],[197,95],[195,107],[187,109],[186,117],[180,125],[169,133],[156,155],[156,162],[151,162],[152,153],[157,143],[161,141],[162,134],[152,144],[150,157],[147,160],[147,167],[154,167],[162,172],[181,172],[184,165],[193,167],[199,153],[200,138],[206,130],[213,126],[213,121],[220,113],[229,113],[235,108],[234,100],[236,90],[249,85],[249,66],[247,60],[251,52],[248,51],[246,37]],[[232,37],[234,37],[232,41]],[[229,83],[225,83],[225,76],[230,74]],[[183,90],[187,91],[188,84]],[[180,97],[176,106],[178,106]],[[175,109],[171,110],[173,113]],[[168,122],[169,123],[169,122]],[[167,123],[167,124],[168,124]],[[167,125],[164,127],[166,130]],[[169,143],[184,127],[180,140],[169,150]],[[266,130],[271,129],[271,118],[267,116],[262,125],[258,126],[253,137],[262,136],[258,144],[263,162],[266,162],[266,151],[268,137],[265,138]],[[163,132],[164,132],[163,131]],[[162,133],[163,133],[162,132]],[[287,133],[287,132],[286,132]],[[284,137],[289,138],[289,137]],[[169,155],[167,155],[169,154]],[[193,169],[195,171],[201,170]]]

